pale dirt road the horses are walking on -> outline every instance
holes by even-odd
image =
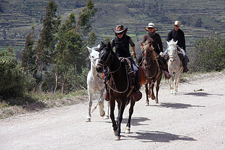
[[[187,78],[177,95],[164,83],[159,104],[145,106],[144,95],[130,134],[124,133],[126,108],[120,141],[98,110],[85,122],[87,107],[84,102],[0,120],[0,150],[225,150],[224,73]]]

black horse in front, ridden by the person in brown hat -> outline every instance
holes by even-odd
[[[135,100],[131,96],[133,91],[133,84],[129,78],[129,69],[126,67],[126,61],[121,61],[111,48],[110,43],[101,43],[100,56],[97,63],[97,71],[103,72],[108,68],[106,75],[110,75],[108,81],[109,87],[109,101],[110,101],[110,118],[112,120],[113,130],[115,132],[115,139],[120,140],[121,123],[123,119],[123,112],[125,106],[130,101],[129,118],[126,125],[126,132],[130,132],[130,121],[133,114],[133,107]],[[125,59],[125,58],[124,58]],[[115,102],[118,104],[117,121],[114,117]]]

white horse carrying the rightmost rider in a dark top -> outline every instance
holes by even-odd
[[[172,94],[176,94],[178,92],[178,83],[180,81],[181,71],[183,70],[182,61],[178,56],[177,41],[175,42],[173,39],[167,42],[167,55],[169,56],[168,60],[168,70],[171,75],[169,85],[170,91]]]

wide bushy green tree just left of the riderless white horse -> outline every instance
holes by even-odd
[[[79,74],[84,72],[83,67],[86,65],[84,60],[86,60],[88,54],[86,46],[92,46],[96,40],[94,31],[91,31],[90,23],[90,19],[96,11],[92,0],[88,0],[86,6],[79,13],[77,21],[75,15],[70,14],[68,20],[59,29],[55,53],[57,59],[55,59],[54,68],[55,87],[58,87],[58,79],[60,78],[62,93],[66,86],[69,89],[74,87],[74,80],[80,79]]]

